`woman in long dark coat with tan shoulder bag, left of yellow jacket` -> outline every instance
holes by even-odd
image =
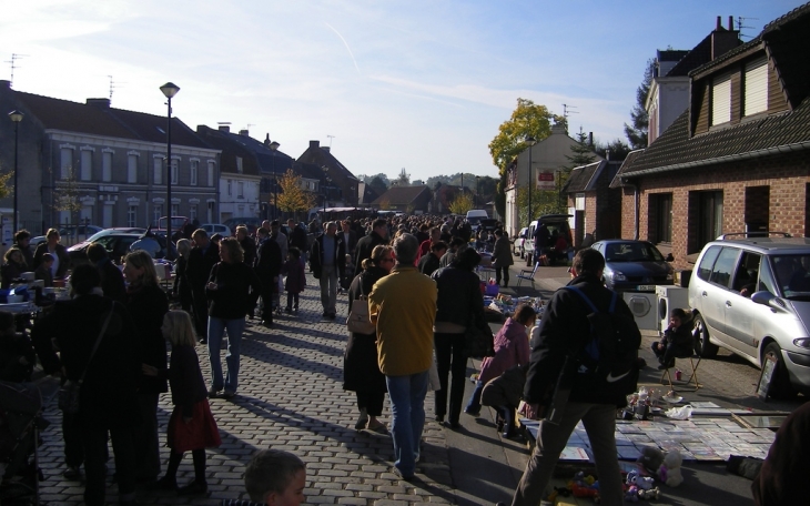
[[[372,250],[371,259],[363,261],[363,272],[357,274],[348,287],[348,300],[365,300],[372,292],[374,283],[387,276],[394,267],[393,249],[377,245]],[[350,320],[351,320],[350,304]],[[368,304],[366,303],[366,307]],[[366,311],[366,315],[367,315]],[[343,389],[353,391],[357,395],[360,417],[354,428],[387,434],[385,424],[377,419],[383,414],[385,401],[385,376],[379,372],[377,362],[376,331],[371,333],[350,332],[346,352],[343,355]]]

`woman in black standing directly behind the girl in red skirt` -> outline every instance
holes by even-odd
[[[124,259],[124,277],[129,283],[126,307],[135,322],[141,363],[165,373],[166,342],[161,326],[163,316],[169,312],[169,298],[160,287],[152,256],[145,251],[128,254]],[[165,378],[165,374],[159,376],[142,374],[139,380],[138,403],[142,418],[135,432],[139,482],[154,482],[160,475],[158,397],[169,391]]]

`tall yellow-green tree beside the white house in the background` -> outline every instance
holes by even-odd
[[[551,134],[551,119],[555,119],[545,105],[535,104],[531,100],[517,99],[517,108],[512,117],[500,123],[498,134],[489,142],[489,154],[493,164],[498,168],[500,184],[495,196],[495,208],[502,215],[506,214],[506,166],[526,149],[524,139],[531,135],[538,142]]]

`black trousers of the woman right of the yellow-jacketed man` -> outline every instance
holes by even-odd
[[[436,368],[442,389],[435,394],[436,416],[447,415],[452,424],[458,423],[464,404],[464,382],[467,380],[467,356],[464,354],[464,334],[434,334]],[[447,411],[447,375],[453,374],[449,385],[449,411]]]

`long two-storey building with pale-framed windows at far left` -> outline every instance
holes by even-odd
[[[19,110],[20,225],[34,234],[75,220],[108,226],[155,224],[166,205],[166,118],[12,90],[0,81],[0,108]],[[13,123],[0,121],[0,165],[13,171]],[[9,149],[11,148],[11,149]],[[172,118],[172,215],[213,221],[220,151]],[[78,204],[69,211],[65,202]],[[12,206],[12,195],[2,208]]]

